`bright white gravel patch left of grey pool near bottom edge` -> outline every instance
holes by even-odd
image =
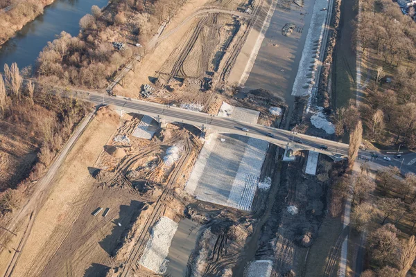
[[[146,243],[143,256],[139,264],[154,271],[156,274],[164,274],[168,267],[166,257],[173,236],[176,233],[178,224],[168,217],[160,217],[159,221],[153,226],[150,238]]]

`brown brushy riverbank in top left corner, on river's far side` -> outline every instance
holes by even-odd
[[[8,6],[0,12],[0,48],[5,42],[13,37],[28,22],[42,15],[44,8],[51,5],[54,0],[21,1],[15,5]]]

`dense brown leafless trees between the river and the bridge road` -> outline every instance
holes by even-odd
[[[163,19],[168,19],[184,1],[116,0],[80,19],[80,33],[62,32],[37,58],[37,74],[76,87],[102,89],[121,66],[140,51],[134,46],[152,37]],[[112,42],[125,42],[116,49]],[[143,53],[141,53],[143,54]]]

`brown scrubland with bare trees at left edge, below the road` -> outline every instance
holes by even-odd
[[[6,128],[1,133],[17,143],[24,143],[27,140],[22,138],[30,137],[37,157],[27,170],[0,164],[2,171],[15,171],[10,178],[0,175],[0,216],[10,213],[21,201],[24,191],[44,174],[88,109],[76,99],[55,95],[55,84],[49,78],[24,80],[16,63],[5,64],[3,70],[4,76],[0,75],[0,125],[15,128],[12,134]],[[4,151],[0,149],[1,157],[12,156]]]

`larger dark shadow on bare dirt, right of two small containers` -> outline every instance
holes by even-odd
[[[113,217],[114,220],[112,220],[112,223],[114,223],[114,226],[111,233],[101,240],[101,242],[98,242],[101,248],[104,249],[110,256],[114,256],[123,245],[123,238],[130,231],[130,225],[137,220],[137,217],[139,217],[143,206],[143,202],[135,200],[130,202],[130,205],[128,206],[120,206],[119,216]],[[108,216],[111,216],[110,213]],[[119,223],[121,226],[118,225]]]

